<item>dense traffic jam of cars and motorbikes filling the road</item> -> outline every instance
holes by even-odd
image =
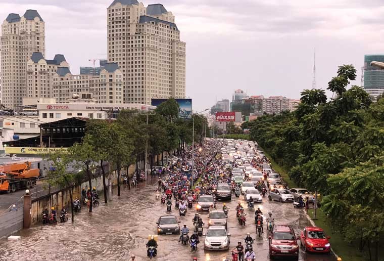
[[[288,188],[255,142],[206,139],[195,148],[195,164],[187,151],[159,176],[164,213],[148,257],[162,260],[157,242],[173,234],[180,260],[335,260],[330,237],[306,215],[315,194]]]

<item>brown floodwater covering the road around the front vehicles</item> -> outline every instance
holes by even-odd
[[[156,181],[156,180],[155,180]],[[146,243],[149,234],[156,234],[156,222],[160,215],[166,214],[166,206],[161,205],[160,200],[155,200],[155,181],[149,181],[148,185],[141,184],[131,191],[122,190],[120,198],[115,197],[108,205],[102,205],[89,214],[85,208],[77,213],[75,222],[36,226],[19,233],[22,239],[17,242],[0,241],[0,260],[130,260],[132,253],[136,260],[148,260]],[[240,227],[235,219],[235,207],[237,202],[242,202],[248,213],[246,227]],[[174,203],[173,203],[174,206]],[[232,197],[227,203],[229,209],[228,233],[231,233],[230,248],[237,241],[242,241],[247,232],[255,238],[255,225],[253,222],[254,211],[248,210],[242,196],[239,199]],[[221,209],[222,202],[217,204]],[[273,213],[276,224],[292,225],[296,232],[304,226],[309,226],[305,218],[304,210],[294,209],[290,203],[268,202],[267,197],[263,203],[255,204],[255,208],[261,207],[264,214]],[[186,223],[193,228],[192,218],[195,214],[188,209],[187,215],[181,217],[181,225]],[[178,217],[178,212],[172,214]],[[203,213],[203,222],[208,224],[207,214]],[[207,225],[204,227],[206,231]],[[264,227],[265,229],[265,227]],[[155,260],[189,261],[194,256],[198,260],[221,261],[230,257],[230,251],[204,251],[203,240],[194,253],[189,246],[182,246],[178,241],[178,235],[159,236],[158,256]],[[254,243],[256,260],[269,260],[268,239],[265,232],[261,238],[256,238]],[[285,259],[280,259],[285,260]],[[305,254],[300,252],[300,260],[307,261],[333,261],[331,255]]]

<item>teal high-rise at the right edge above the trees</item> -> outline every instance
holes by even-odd
[[[384,62],[384,55],[364,56],[364,90],[376,101],[378,95],[384,93],[384,69],[371,66],[371,62]]]

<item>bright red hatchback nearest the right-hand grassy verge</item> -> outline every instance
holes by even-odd
[[[300,235],[300,244],[305,252],[329,253],[329,236],[318,227],[305,227]]]

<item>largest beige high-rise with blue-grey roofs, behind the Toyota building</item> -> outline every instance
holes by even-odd
[[[185,97],[185,42],[163,5],[114,0],[107,9],[108,61],[122,73],[124,103]]]

